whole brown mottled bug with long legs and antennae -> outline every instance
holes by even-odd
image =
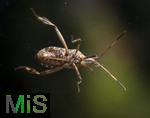
[[[58,27],[53,24],[50,20],[48,20],[46,17],[39,16],[33,8],[31,8],[34,16],[41,21],[42,23],[54,28],[56,31],[56,34],[60,40],[60,42],[63,45],[62,47],[55,47],[55,46],[49,46],[46,48],[41,49],[37,53],[37,59],[40,62],[40,64],[46,69],[44,71],[38,71],[35,68],[27,67],[27,66],[19,66],[16,67],[15,70],[25,70],[30,74],[34,75],[48,75],[52,74],[54,72],[60,71],[62,69],[73,69],[75,70],[77,74],[77,90],[80,92],[80,84],[82,83],[82,77],[79,72],[79,67],[86,67],[90,70],[93,70],[89,64],[94,64],[95,67],[102,68],[106,73],[108,73],[111,78],[113,78],[123,89],[126,91],[126,87],[118,80],[116,77],[108,71],[102,64],[100,64],[97,60],[102,58],[104,54],[112,48],[116,42],[124,36],[126,31],[123,31],[117,38],[114,40],[102,53],[100,56],[92,55],[92,56],[85,56],[82,52],[80,52],[80,44],[81,39],[75,39],[72,41],[72,43],[77,43],[76,49],[69,49],[64,37],[62,36],[61,32],[59,31]]]

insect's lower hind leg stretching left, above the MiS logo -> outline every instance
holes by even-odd
[[[27,66],[19,66],[19,67],[15,68],[15,70],[25,70],[28,73],[33,74],[33,75],[48,75],[48,74],[52,74],[54,72],[57,72],[61,69],[63,69],[63,66],[56,67],[56,68],[53,68],[53,69],[44,70],[44,71],[41,71],[41,72],[37,71],[34,68],[27,67]]]

